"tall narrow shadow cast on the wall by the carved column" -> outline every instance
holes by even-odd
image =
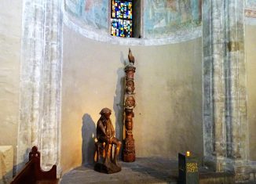
[[[120,53],[120,63],[125,66],[126,61],[123,58],[123,52]],[[119,140],[123,140],[124,67],[119,67],[116,74],[117,83],[113,102],[113,110],[115,112],[115,137]]]

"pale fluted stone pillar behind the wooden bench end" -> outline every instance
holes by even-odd
[[[62,16],[60,0],[24,0],[17,170],[38,146],[41,166],[59,163]],[[58,169],[59,171],[59,169]]]

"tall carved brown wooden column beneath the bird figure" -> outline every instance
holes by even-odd
[[[133,108],[135,106],[134,98],[134,81],[133,74],[136,67],[133,67],[133,63],[129,63],[125,67],[126,72],[126,94],[125,94],[125,126],[126,126],[126,138],[124,139],[123,149],[123,161],[133,162],[135,161],[135,146],[133,139]]]

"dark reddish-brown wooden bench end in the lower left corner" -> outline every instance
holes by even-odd
[[[11,184],[55,184],[57,179],[57,166],[54,164],[49,171],[42,171],[40,167],[40,152],[33,146],[29,153],[29,161],[24,168],[13,178]]]

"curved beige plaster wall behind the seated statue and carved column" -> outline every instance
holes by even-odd
[[[129,46],[93,41],[64,26],[61,156],[63,171],[93,161],[100,110],[112,109],[123,139],[124,63]],[[135,56],[133,137],[137,157],[192,150],[203,157],[201,38],[132,46]]]

